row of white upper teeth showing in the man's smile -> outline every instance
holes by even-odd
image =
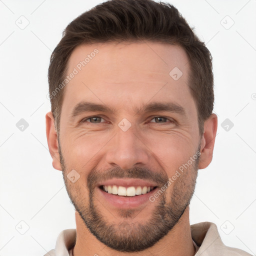
[[[108,192],[109,194],[118,194],[124,196],[134,196],[140,194],[146,194],[153,189],[151,186],[134,186],[124,187],[124,186],[116,186],[116,185],[103,185],[103,190]]]

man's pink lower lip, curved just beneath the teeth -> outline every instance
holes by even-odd
[[[150,202],[149,197],[155,192],[154,188],[150,192],[146,194],[140,194],[140,195],[134,195],[134,196],[123,196],[123,195],[116,195],[116,194],[110,194],[99,187],[97,188],[99,190],[99,193],[103,198],[109,202],[111,205],[117,207],[117,208],[133,208],[141,206],[147,202]]]

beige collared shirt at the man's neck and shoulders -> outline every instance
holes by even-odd
[[[237,248],[228,247],[220,239],[217,226],[212,222],[200,222],[190,225],[191,236],[196,249],[195,256],[251,256]],[[65,229],[57,237],[55,249],[44,256],[72,256],[76,229]]]

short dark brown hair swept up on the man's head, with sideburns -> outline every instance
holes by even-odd
[[[214,102],[211,54],[173,5],[153,0],[108,0],[82,13],[64,29],[48,69],[57,133],[64,88],[56,88],[64,80],[74,48],[80,44],[141,40],[180,45],[186,51],[190,61],[188,86],[197,107],[199,133],[203,134],[203,123],[212,113]]]

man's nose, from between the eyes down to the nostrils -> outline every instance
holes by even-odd
[[[116,134],[108,143],[106,162],[112,166],[118,165],[122,169],[130,169],[137,164],[148,164],[150,150],[139,134],[132,126],[126,131],[118,127]]]

